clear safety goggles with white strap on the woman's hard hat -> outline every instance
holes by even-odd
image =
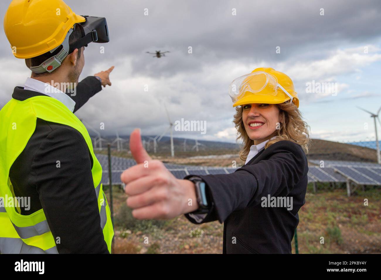
[[[269,73],[258,71],[236,78],[229,85],[229,95],[235,103],[245,93],[251,92],[256,95],[276,96],[280,88],[292,100],[293,97],[278,83],[278,79]]]

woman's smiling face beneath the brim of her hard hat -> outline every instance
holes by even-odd
[[[253,103],[242,105],[242,108],[242,122],[254,145],[270,139],[280,127],[281,118],[276,104]]]

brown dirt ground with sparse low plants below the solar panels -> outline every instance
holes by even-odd
[[[115,189],[113,197],[114,213],[118,215],[126,195]],[[368,206],[364,205],[364,198],[368,199]],[[381,253],[380,209],[379,189],[347,197],[344,189],[313,194],[309,186],[306,204],[299,210],[299,253]],[[136,229],[139,223],[132,218],[130,229],[115,226],[113,253],[222,253],[223,224],[218,221],[195,225],[180,216],[163,221],[160,226]],[[294,241],[295,238],[293,253]]]

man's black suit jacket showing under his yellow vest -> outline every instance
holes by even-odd
[[[66,94],[75,101],[76,112],[101,90],[99,80],[89,76],[77,84],[77,95]],[[46,94],[16,86],[12,97],[23,101],[41,95]],[[93,158],[82,134],[70,126],[40,118],[26,147],[11,166],[9,176],[14,193],[30,197],[30,209],[21,208],[21,214],[30,215],[43,208],[54,240],[59,237],[56,246],[60,254],[109,253],[101,228],[92,166]]]

